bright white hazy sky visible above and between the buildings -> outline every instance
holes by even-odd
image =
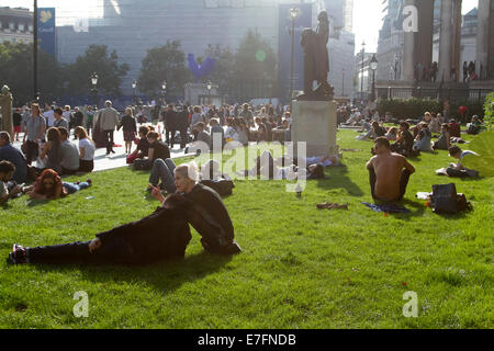
[[[143,0],[143,3],[145,0]],[[197,0],[202,1],[202,0]],[[24,7],[33,9],[33,0],[0,0],[0,7]],[[295,2],[295,1],[294,1]],[[359,52],[362,46],[362,41],[366,42],[366,52],[375,52],[378,48],[379,30],[382,26],[382,18],[384,14],[383,0],[353,0],[353,33],[356,34],[356,52]],[[462,13],[467,13],[476,7],[479,0],[463,0]],[[56,7],[58,10],[58,23],[71,24],[74,13],[80,16],[88,15],[88,12],[100,13],[101,8],[98,8],[98,0],[38,0],[40,8]],[[65,11],[64,11],[65,10]],[[67,10],[70,13],[67,13]]]

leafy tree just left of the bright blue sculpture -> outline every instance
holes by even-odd
[[[190,79],[186,69],[186,53],[179,41],[168,41],[165,46],[147,50],[138,77],[138,89],[149,97],[158,97],[162,81],[167,82],[167,94],[182,95],[183,86]]]

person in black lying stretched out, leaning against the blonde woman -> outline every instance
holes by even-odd
[[[10,264],[148,264],[179,259],[192,238],[187,224],[187,200],[169,195],[162,206],[141,220],[96,235],[90,241],[23,248],[14,244]]]

